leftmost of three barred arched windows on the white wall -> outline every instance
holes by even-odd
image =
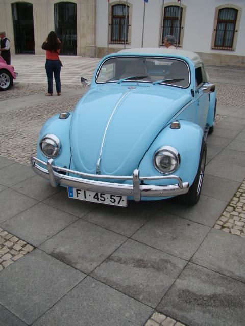
[[[127,16],[127,17],[126,17]],[[124,44],[129,39],[129,6],[117,4],[111,6],[111,41],[110,43]]]

